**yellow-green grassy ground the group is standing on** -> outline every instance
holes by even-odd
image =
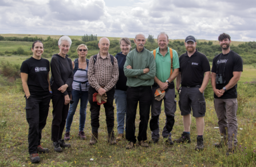
[[[0,57],[0,61],[13,59],[15,63],[21,63],[26,57]],[[239,81],[238,94],[243,94],[243,82],[253,81],[256,78],[255,68],[245,65],[241,80]],[[49,148],[50,153],[41,154],[39,164],[31,164],[27,151],[28,124],[25,115],[25,99],[23,93],[17,89],[0,89],[0,166],[255,166],[256,165],[256,98],[246,98],[243,110],[238,115],[238,149],[237,153],[226,157],[227,146],[221,149],[214,148],[212,144],[220,140],[218,119],[215,114],[214,104],[206,100],[206,117],[204,130],[204,150],[195,151],[196,145],[196,124],[192,118],[191,144],[175,144],[168,146],[162,137],[155,145],[149,148],[135,146],[126,150],[127,141],[118,142],[117,145],[109,145],[107,142],[107,126],[105,123],[105,112],[101,106],[99,144],[90,146],[90,105],[87,108],[85,123],[85,135],[87,140],[80,140],[77,137],[79,126],[79,108],[74,116],[70,134],[72,140],[68,141],[71,148],[65,149],[62,153],[53,151],[50,140],[52,125],[52,102],[50,102],[49,117],[42,132],[42,146]],[[178,100],[178,99],[176,99]],[[139,112],[139,110],[137,110]],[[160,115],[160,129],[165,122],[164,106]],[[116,113],[116,109],[115,109]],[[116,114],[115,114],[116,116]],[[116,118],[116,117],[115,117]],[[136,136],[138,133],[139,115],[136,117]],[[115,133],[117,122],[115,119]],[[172,130],[172,138],[179,138],[183,132],[183,121],[177,105],[175,113],[175,125]],[[148,140],[151,139],[151,132],[148,128]],[[90,161],[93,158],[93,161]]]

